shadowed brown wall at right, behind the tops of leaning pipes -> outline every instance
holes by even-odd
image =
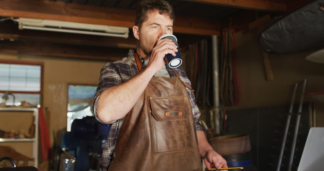
[[[305,59],[313,51],[287,55],[269,54],[274,79],[267,81],[257,38],[256,31],[236,33],[241,101],[238,106],[227,108],[228,110],[290,104],[296,82],[299,83],[295,97],[298,105],[303,79],[307,79],[305,93],[324,90],[324,64]],[[304,98],[304,102],[312,101],[314,100],[309,97]],[[315,103],[317,127],[324,127],[323,106],[323,103]]]

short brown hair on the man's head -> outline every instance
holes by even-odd
[[[168,14],[174,22],[175,15],[172,6],[165,0],[143,0],[136,11],[135,26],[141,28],[142,23],[147,19],[147,12],[158,10],[159,13]]]

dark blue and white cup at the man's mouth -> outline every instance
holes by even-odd
[[[181,59],[181,55],[180,55],[180,51],[179,51],[179,45],[178,45],[178,40],[177,38],[172,35],[172,34],[165,34],[165,35],[162,35],[158,40],[161,40],[161,39],[171,39],[173,43],[175,43],[177,46],[178,46],[178,51],[175,52],[176,53],[176,56],[172,56],[172,54],[166,54],[165,55],[165,59],[167,60],[167,63],[169,65],[170,68],[177,68],[178,66],[181,65],[182,63],[182,59]]]

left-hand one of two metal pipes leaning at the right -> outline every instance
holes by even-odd
[[[293,114],[293,107],[294,107],[294,101],[295,101],[295,94],[296,94],[297,86],[298,86],[298,84],[295,83],[293,96],[292,96],[291,102],[290,102],[290,108],[289,108],[289,113],[288,113],[288,117],[287,117],[286,128],[284,130],[284,138],[283,138],[283,142],[281,144],[281,149],[280,149],[280,154],[279,154],[279,161],[278,161],[278,165],[277,165],[277,171],[280,171],[281,162],[282,162],[283,155],[284,155],[284,146],[285,146],[286,140],[287,140],[287,134],[288,134],[288,130],[289,130],[289,124],[290,124],[291,115]]]

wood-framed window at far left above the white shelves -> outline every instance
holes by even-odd
[[[0,103],[41,105],[42,71],[43,63],[0,61]]]

